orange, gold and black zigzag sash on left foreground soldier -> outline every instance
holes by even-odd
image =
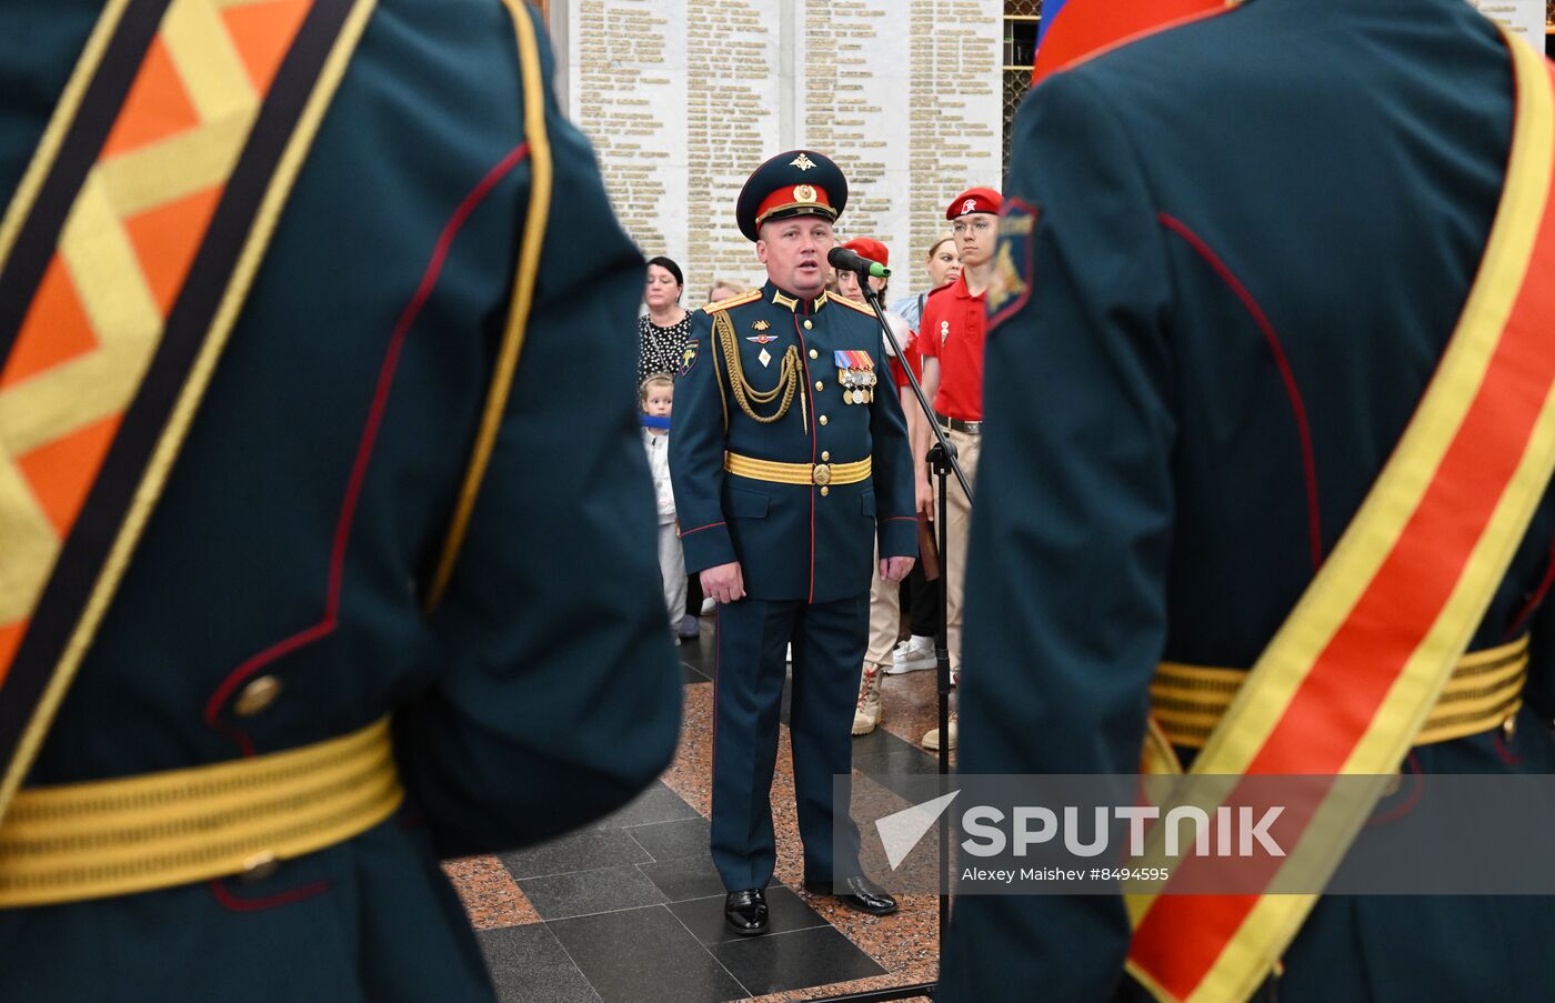
[[[110,0],[0,219],[0,816],[372,0]]]

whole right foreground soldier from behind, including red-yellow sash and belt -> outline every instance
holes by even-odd
[[[1434,774],[1555,771],[1555,89],[1460,0],[1214,6],[1015,120],[958,765],[1392,774],[1277,823],[1325,874]],[[1479,852],[1539,841],[1511,799]],[[1194,860],[959,897],[936,998],[1550,995],[1547,896],[1176,894]]]

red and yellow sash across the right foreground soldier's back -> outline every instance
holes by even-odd
[[[1228,778],[1221,799],[1200,806],[1211,810],[1255,801],[1258,776],[1378,778],[1323,782],[1295,806],[1297,840],[1281,840],[1289,857],[1267,866],[1260,889],[1292,868],[1314,886],[1312,874],[1337,866],[1468,648],[1555,471],[1552,68],[1524,42],[1507,36],[1507,45],[1511,156],[1457,330],[1333,557],[1193,764],[1194,774]],[[1171,880],[1126,889],[1127,966],[1160,1000],[1247,998],[1317,902],[1169,894],[1214,865],[1165,854],[1149,863],[1169,865]]]

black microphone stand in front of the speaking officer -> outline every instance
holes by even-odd
[[[889,322],[885,319],[885,308],[880,305],[880,295],[869,288],[869,274],[865,269],[857,269],[858,289],[863,292],[869,306],[874,309],[875,320],[880,322],[880,333],[885,336],[891,351],[896,358],[902,361],[902,372],[907,373],[907,383],[913,387],[913,397],[917,398],[917,406],[922,409],[924,417],[928,420],[928,431],[935,434],[935,445],[928,449],[928,467],[935,473],[935,484],[939,495],[939,507],[936,510],[935,519],[935,535],[936,544],[939,546],[939,630],[935,634],[935,675],[939,692],[939,793],[947,793],[949,787],[947,778],[950,776],[950,592],[945,588],[947,575],[947,529],[945,529],[945,504],[949,501],[950,474],[956,476],[956,482],[961,490],[966,491],[967,501],[972,499],[972,484],[967,481],[966,473],[961,470],[961,463],[956,460],[956,448],[945,439],[945,429],[939,426],[938,418],[935,418],[935,409],[930,406],[928,398],[924,395],[924,386],[917,381],[917,375],[907,364],[907,356],[902,353],[900,342],[896,341],[896,331],[891,330]],[[944,963],[945,956],[945,931],[950,925],[950,816],[944,815],[939,820],[939,958]],[[935,995],[938,983],[922,983],[917,986],[902,986],[897,989],[886,989],[880,992],[860,992],[846,997],[830,997],[830,1000],[905,1000],[914,995]]]

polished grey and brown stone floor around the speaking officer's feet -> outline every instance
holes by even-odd
[[[680,647],[686,717],[675,764],[656,784],[589,829],[445,865],[504,1003],[798,1001],[933,981],[936,897],[897,896],[900,913],[874,917],[801,888],[787,725],[773,781],[771,930],[740,938],[725,928],[708,851],[712,620],[701,624],[701,639]],[[891,778],[938,768],[916,745],[935,723],[933,676],[886,676],[885,726],[854,740],[855,806],[907,807]],[[869,861],[880,858],[866,827],[877,877]]]

